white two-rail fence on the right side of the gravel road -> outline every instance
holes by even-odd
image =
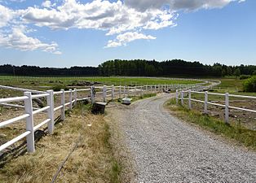
[[[187,94],[188,98],[185,98],[184,95]],[[192,98],[191,94],[204,94],[205,100],[197,100],[195,98]],[[208,95],[217,95],[217,96],[223,96],[225,98],[225,104],[219,104],[216,102],[210,102],[208,100]],[[180,97],[179,97],[180,96]],[[176,102],[178,103],[179,99],[181,100],[181,105],[184,105],[184,100],[188,100],[188,107],[189,109],[192,109],[192,102],[201,102],[204,103],[204,113],[208,113],[208,105],[214,105],[217,107],[224,107],[225,110],[225,122],[228,124],[229,123],[229,109],[235,109],[235,110],[241,110],[241,111],[249,111],[249,112],[254,112],[256,113],[255,110],[253,109],[246,109],[246,108],[241,108],[241,107],[232,107],[229,105],[229,100],[230,97],[234,98],[248,98],[248,99],[256,99],[254,96],[244,96],[244,95],[236,95],[236,94],[217,94],[217,93],[210,93],[208,91],[201,92],[197,90],[192,90],[192,89],[187,89],[187,90],[181,90],[179,91],[178,89],[176,90]]]

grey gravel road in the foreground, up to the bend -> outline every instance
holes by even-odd
[[[112,110],[135,161],[138,182],[256,182],[256,153],[176,119],[170,94]]]

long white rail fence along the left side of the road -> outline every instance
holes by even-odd
[[[122,98],[126,96],[140,95],[148,93],[157,93],[166,90],[176,90],[176,89],[187,89],[188,87],[195,87],[195,85],[143,85],[143,86],[91,86],[86,89],[69,89],[64,91],[61,89],[60,91],[54,92],[53,90],[47,90],[46,92],[39,92],[40,94],[32,94],[36,93],[33,91],[25,91],[24,96],[15,97],[15,98],[0,98],[0,105],[3,106],[13,106],[13,107],[23,107],[24,114],[12,118],[10,120],[5,120],[0,122],[0,128],[6,127],[7,125],[11,125],[19,122],[20,120],[26,120],[26,131],[19,136],[13,138],[11,141],[6,142],[0,146],[0,152],[2,150],[6,150],[7,147],[13,145],[15,142],[20,141],[24,137],[26,137],[27,142],[27,150],[29,152],[35,151],[35,142],[34,142],[34,132],[42,126],[47,124],[48,133],[54,133],[54,124],[55,124],[55,112],[60,111],[60,120],[65,119],[65,109],[72,109],[74,105],[77,104],[77,101],[88,99],[90,102],[94,103],[95,100],[103,100],[107,102],[107,98],[113,100],[114,98]],[[95,92],[96,91],[96,92]],[[77,98],[77,93],[79,92],[88,92],[85,98]],[[65,94],[68,94],[68,101],[65,101]],[[60,95],[60,106],[55,107],[55,96]],[[33,99],[34,98],[46,98],[46,107],[35,108],[33,107]],[[17,104],[10,104],[9,102],[24,102],[24,106],[20,106]],[[34,115],[46,112],[47,118],[43,120],[38,125],[34,126],[33,120]],[[4,114],[3,114],[4,115]]]

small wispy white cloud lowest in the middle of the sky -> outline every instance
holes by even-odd
[[[130,41],[135,41],[138,39],[151,40],[156,38],[157,37],[152,37],[150,35],[146,36],[143,33],[128,32],[128,33],[119,34],[115,40],[108,41],[108,45],[105,47],[110,48],[110,47],[117,47],[117,46],[126,46],[126,43]]]

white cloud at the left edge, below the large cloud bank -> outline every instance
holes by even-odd
[[[0,46],[12,48],[15,50],[42,50],[52,54],[61,54],[58,45],[55,42],[43,43],[37,38],[28,37],[25,33],[29,33],[24,26],[12,28],[11,33],[0,33]]]

